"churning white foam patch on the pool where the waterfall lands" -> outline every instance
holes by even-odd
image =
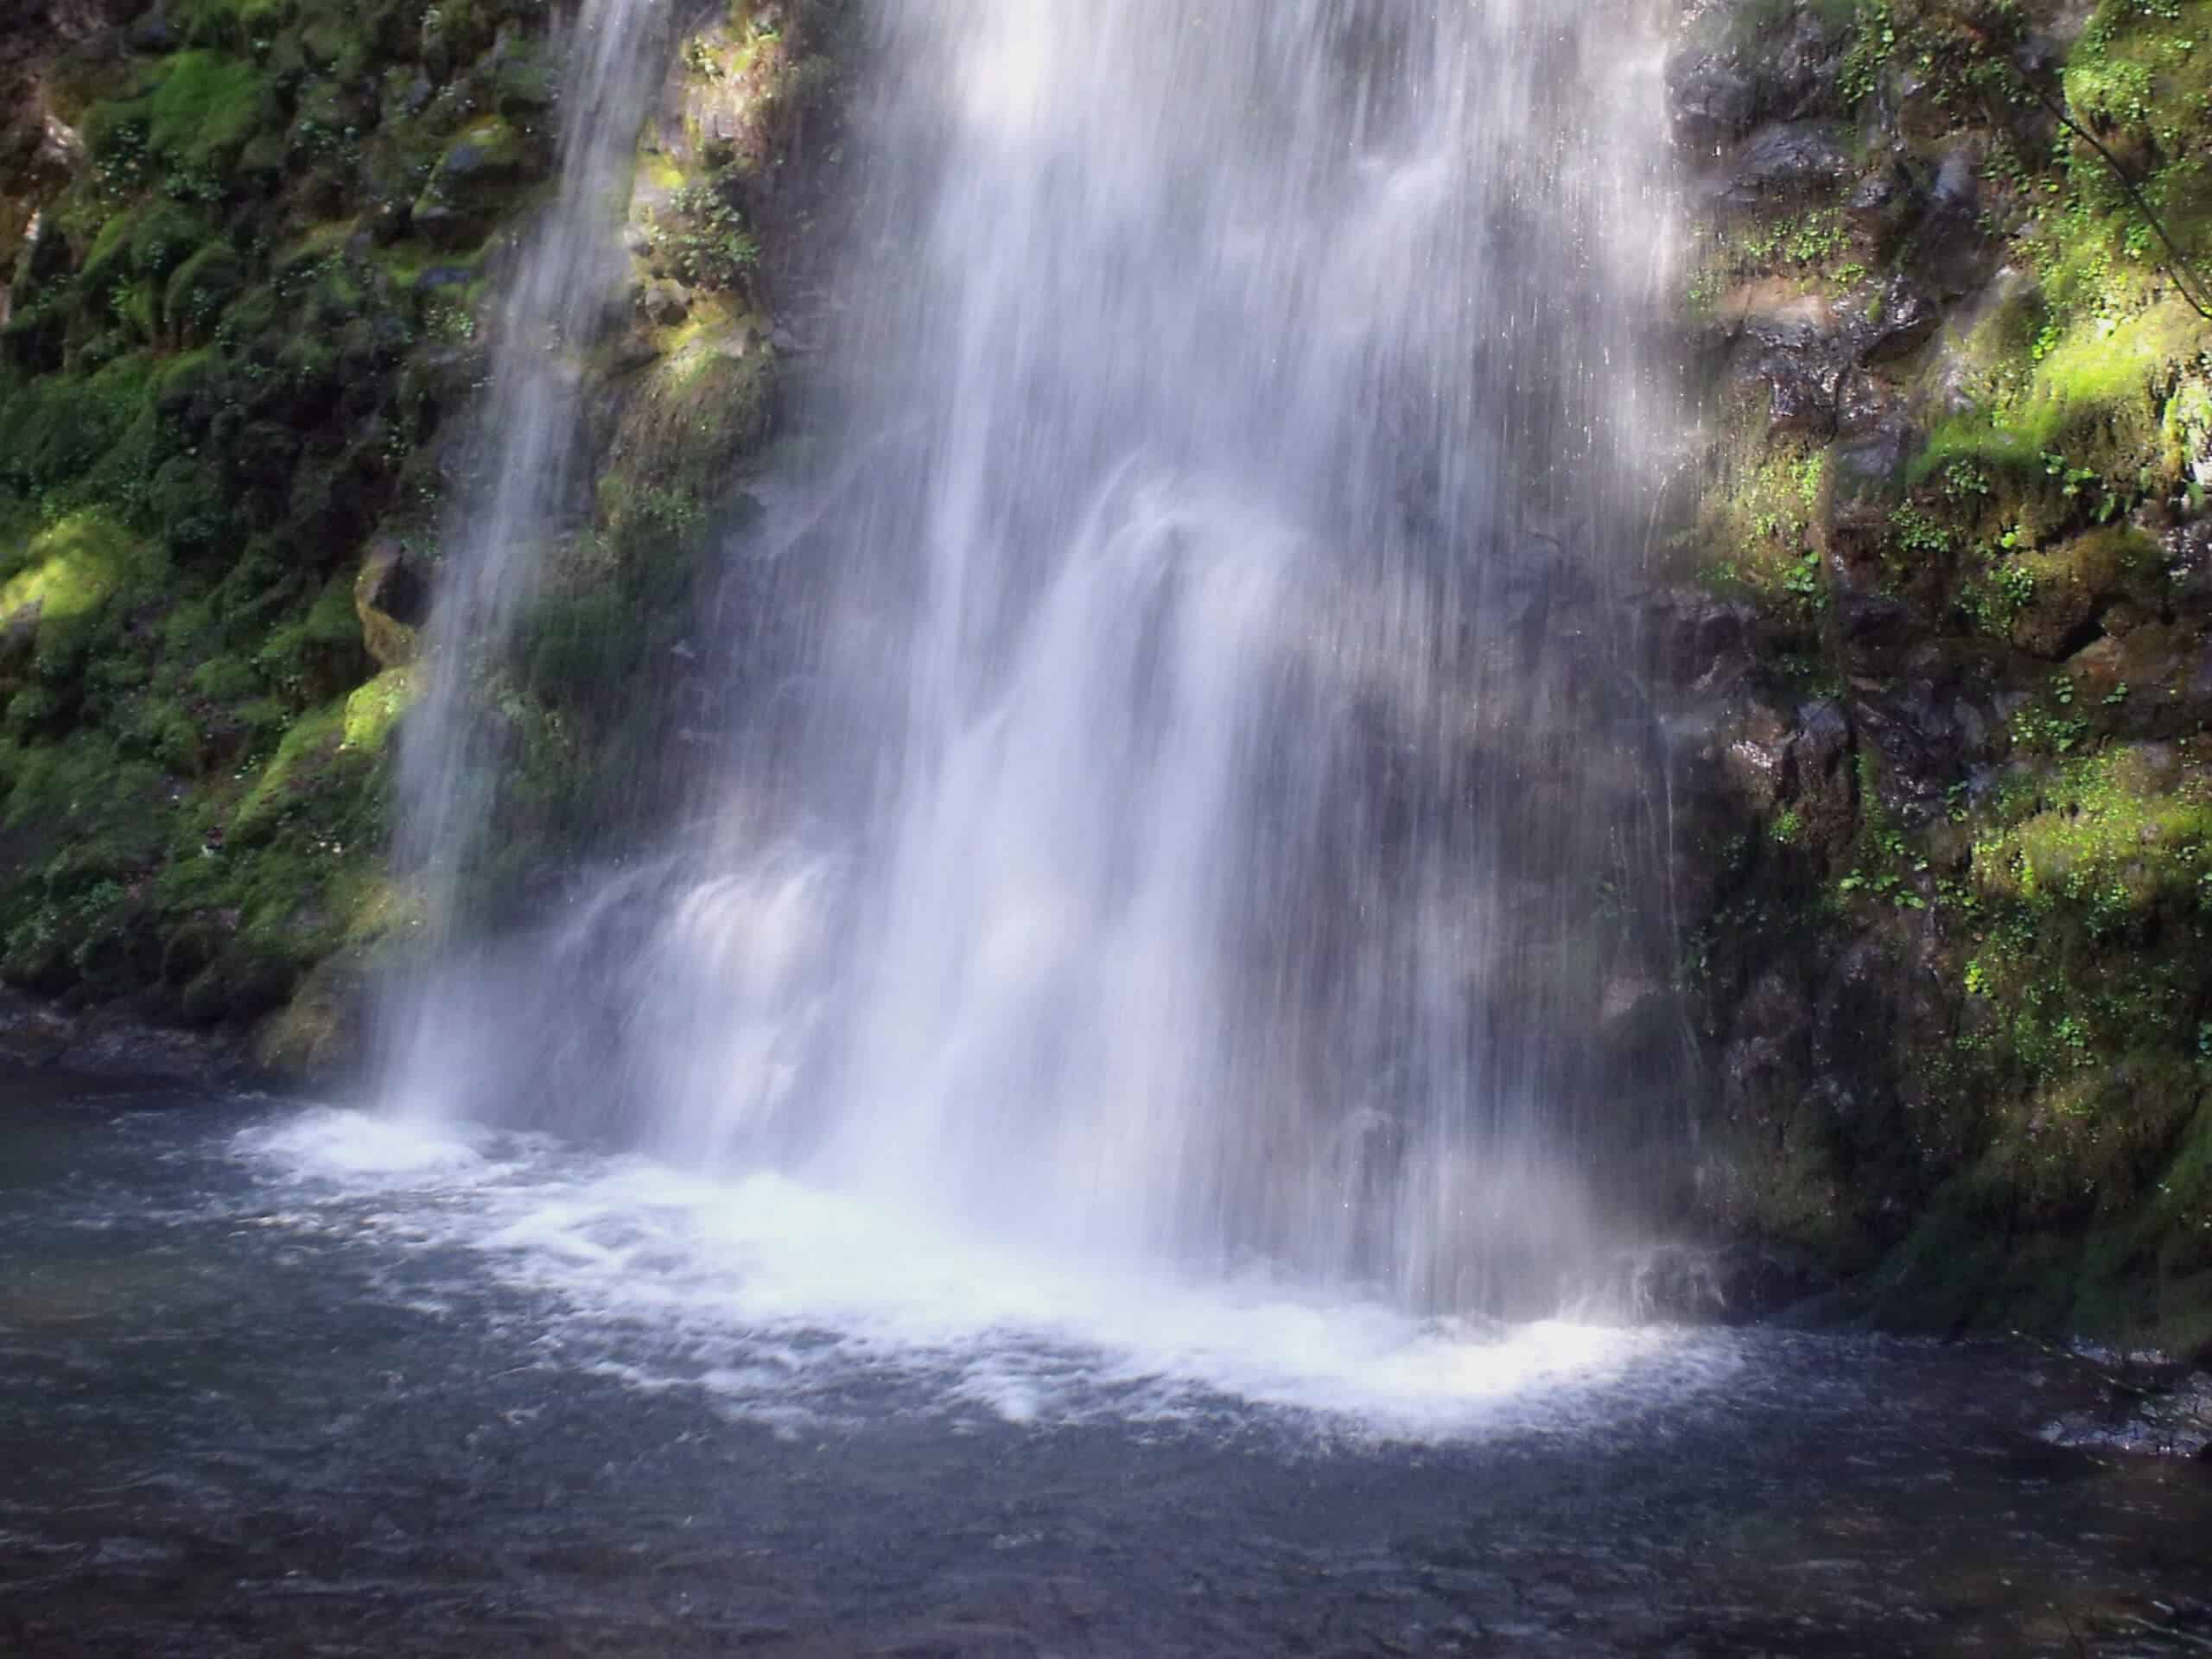
[[[568,1363],[699,1387],[774,1425],[1256,1405],[1343,1433],[1447,1438],[1610,1420],[1734,1369],[1728,1343],[1681,1329],[1473,1327],[1256,1272],[1040,1256],[787,1175],[686,1175],[469,1126],[310,1110],[237,1150],[303,1225],[465,1248],[538,1296]]]

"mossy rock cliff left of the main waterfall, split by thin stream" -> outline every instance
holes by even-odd
[[[500,841],[529,858],[613,810],[593,688],[679,644],[668,599],[768,436],[772,274],[805,241],[794,161],[838,15],[732,0],[670,31],[633,288],[602,338],[560,343],[599,484],[518,653],[476,666],[518,759]],[[544,0],[0,22],[9,984],[270,1062],[343,1053],[349,980],[411,922],[385,872],[392,734],[500,281],[568,117],[562,27]],[[484,872],[487,905],[522,863]],[[97,1053],[86,1022],[24,1031]]]

